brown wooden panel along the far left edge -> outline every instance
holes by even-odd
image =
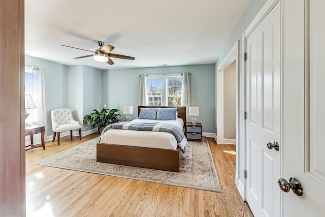
[[[24,1],[0,9],[0,216],[25,216]]]

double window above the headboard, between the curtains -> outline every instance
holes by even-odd
[[[180,106],[182,95],[181,75],[148,75],[148,105]]]

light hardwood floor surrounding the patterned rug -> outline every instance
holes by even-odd
[[[222,193],[41,166],[36,162],[97,137],[62,137],[26,151],[27,216],[253,216],[235,185],[235,145],[208,138]],[[40,215],[39,215],[40,214]]]

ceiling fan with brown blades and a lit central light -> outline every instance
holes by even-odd
[[[132,56],[124,56],[124,55],[120,55],[120,54],[110,53],[114,49],[114,47],[109,44],[105,45],[105,42],[98,41],[97,44],[98,44],[98,46],[100,46],[100,48],[95,51],[85,50],[85,49],[81,49],[81,48],[77,48],[77,47],[71,47],[68,45],[61,45],[61,46],[75,48],[75,49],[79,49],[79,50],[85,50],[85,51],[89,51],[89,52],[93,53],[93,54],[86,55],[86,56],[75,57],[75,59],[93,56],[93,59],[95,61],[106,62],[109,65],[114,64],[113,60],[110,57],[120,58],[120,59],[132,59],[132,60],[135,59],[135,57],[132,57]]]

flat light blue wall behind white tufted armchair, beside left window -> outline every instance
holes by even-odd
[[[68,107],[68,66],[31,56],[25,56],[25,66],[44,70],[46,135],[51,136],[51,110]]]

